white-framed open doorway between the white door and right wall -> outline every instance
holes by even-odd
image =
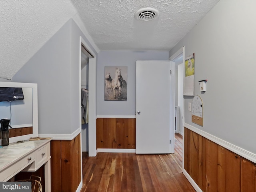
[[[175,62],[175,140],[182,137],[182,165],[184,164],[184,97],[183,97],[183,82],[184,82],[184,46],[170,57],[170,61]],[[180,146],[174,146],[174,151]],[[183,168],[183,167],[182,167]]]

